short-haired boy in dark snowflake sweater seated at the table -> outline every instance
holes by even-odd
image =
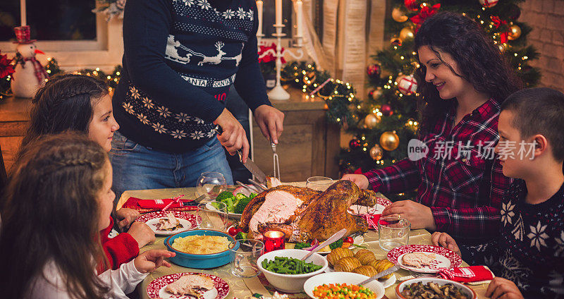
[[[519,179],[501,205],[501,235],[481,255],[499,276],[486,296],[564,298],[564,94],[521,90],[501,110],[496,152],[503,174]],[[432,242],[460,255],[447,233]]]

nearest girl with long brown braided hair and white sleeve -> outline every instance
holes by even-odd
[[[27,144],[6,189],[0,228],[5,298],[127,298],[167,250],[149,250],[118,270],[107,263],[99,231],[115,194],[108,156],[84,135],[49,135]],[[32,187],[32,188],[30,188]]]

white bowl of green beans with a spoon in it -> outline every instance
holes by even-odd
[[[259,257],[257,266],[278,291],[298,293],[309,277],[323,273],[328,266],[327,260],[317,253],[302,261],[308,253],[300,249],[274,250]]]

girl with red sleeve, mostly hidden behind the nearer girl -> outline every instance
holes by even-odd
[[[84,133],[106,152],[111,150],[111,139],[119,125],[114,119],[111,97],[106,84],[86,75],[59,75],[49,79],[32,100],[30,127],[22,147],[48,134],[69,130]],[[154,242],[154,233],[141,222],[135,222],[139,212],[119,209],[116,212],[119,228],[130,226],[127,233],[109,238],[114,219],[100,231],[104,251],[112,269],[129,262],[139,254],[139,248]]]

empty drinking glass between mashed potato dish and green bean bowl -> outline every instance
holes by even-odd
[[[234,250],[235,242],[239,242],[239,248]],[[231,255],[231,274],[250,278],[260,274],[257,266],[257,259],[264,252],[264,243],[259,240],[238,239],[229,245],[229,254]]]

